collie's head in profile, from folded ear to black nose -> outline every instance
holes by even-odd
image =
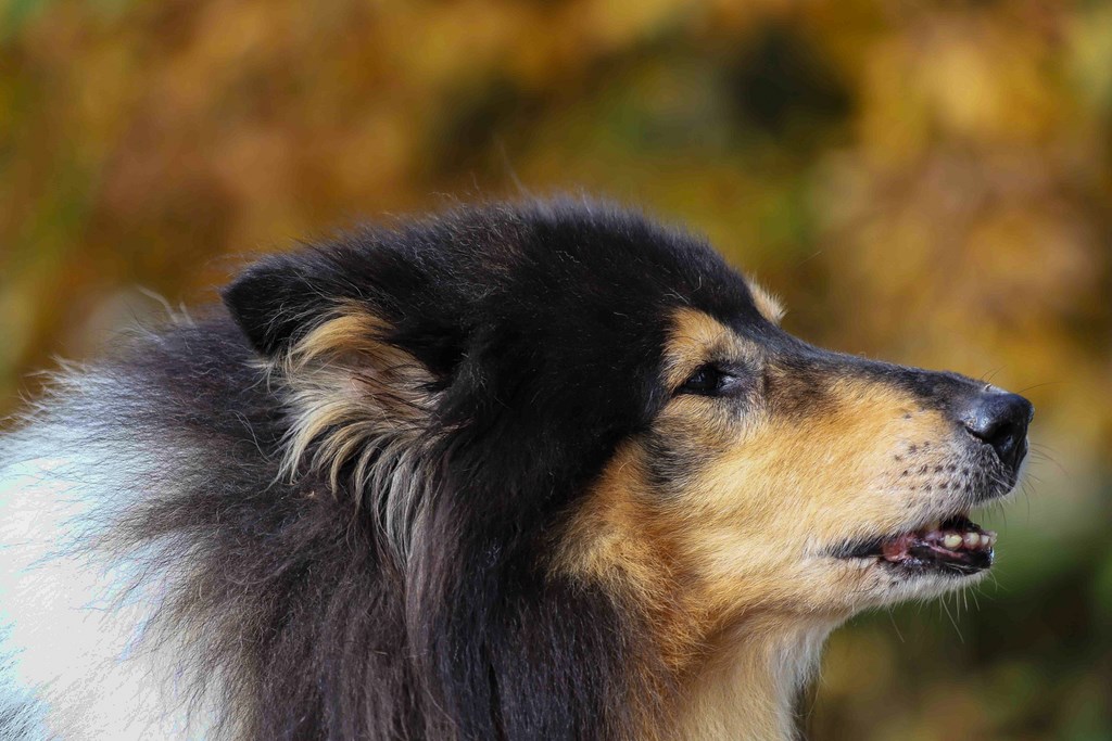
[[[594,590],[682,662],[937,594],[991,565],[966,514],[1026,452],[1021,397],[812,347],[703,240],[596,203],[353,233],[225,299],[286,394],[285,473],[359,503],[407,614],[457,635]]]

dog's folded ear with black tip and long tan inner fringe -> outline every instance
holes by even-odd
[[[438,391],[377,308],[386,299],[356,278],[370,268],[350,259],[324,250],[268,258],[224,301],[289,410],[285,474],[317,472],[334,490],[381,498],[370,509],[404,550],[416,495],[407,467],[417,464]]]

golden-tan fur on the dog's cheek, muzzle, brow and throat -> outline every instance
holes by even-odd
[[[678,387],[724,349],[768,388],[792,382],[758,346],[692,310],[675,317],[665,382]],[[677,395],[654,432],[705,464],[678,492],[657,491],[651,452],[633,439],[574,517],[555,568],[641,615],[667,668],[663,683],[679,688],[663,709],[643,709],[647,738],[788,738],[794,694],[833,628],[865,607],[951,587],[894,583],[828,555],[847,539],[921,527],[952,499],[941,414],[854,377],[826,391],[810,413],[783,413],[768,394],[743,414]]]

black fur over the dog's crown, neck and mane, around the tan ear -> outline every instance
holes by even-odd
[[[629,738],[628,699],[652,708],[659,690],[641,627],[546,575],[545,557],[666,400],[671,311],[755,322],[742,278],[697,238],[558,201],[354,232],[266,259],[224,296],[229,313],[106,367],[113,391],[93,401],[103,434],[172,441],[175,493],[129,509],[111,545],[189,563],[157,625],[196,637],[228,722],[265,739]],[[288,410],[259,360],[353,302],[441,392],[408,563],[359,508],[367,492],[278,475]]]

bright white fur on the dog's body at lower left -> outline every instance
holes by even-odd
[[[89,548],[156,464],[76,412],[0,441],[0,711],[21,708],[0,734],[212,738],[214,713],[189,711],[180,643],[140,640],[170,574]]]

